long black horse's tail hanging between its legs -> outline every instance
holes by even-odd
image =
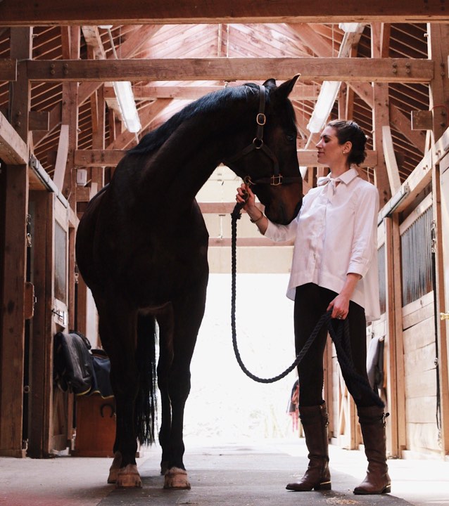
[[[138,318],[136,360],[139,391],[134,404],[135,430],[141,445],[148,445],[156,441],[156,319],[153,316]]]

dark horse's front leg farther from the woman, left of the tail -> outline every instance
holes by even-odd
[[[117,487],[141,487],[137,471],[137,436],[134,427],[134,401],[139,387],[136,352],[137,313],[126,308],[119,297],[103,303],[96,298],[101,342],[110,359],[110,381],[116,406],[115,459],[108,483]],[[120,462],[120,469],[118,468]]]

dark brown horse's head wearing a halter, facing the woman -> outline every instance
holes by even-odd
[[[281,224],[295,218],[303,200],[296,153],[298,131],[288,98],[298,77],[279,87],[274,79],[268,79],[263,86],[255,86],[258,112],[248,132],[248,138],[253,141],[224,161],[251,185],[265,205],[267,217]]]

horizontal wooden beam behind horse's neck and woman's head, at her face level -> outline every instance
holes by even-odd
[[[76,150],[74,164],[77,167],[115,167],[122,160],[126,150]],[[316,150],[298,150],[299,164],[304,167],[322,167],[317,162]],[[377,152],[367,151],[365,162],[361,167],[376,167]],[[324,166],[323,166],[324,167]]]

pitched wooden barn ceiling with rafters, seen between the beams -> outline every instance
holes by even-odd
[[[372,27],[381,30],[384,44],[380,48],[382,58],[428,58],[424,22],[365,24],[362,32],[353,37],[348,47],[348,58],[358,58],[356,65],[372,58]],[[72,29],[59,25],[39,25],[32,29],[32,56],[34,60],[68,60]],[[98,148],[104,142],[106,150],[129,148],[143,136],[164,122],[170,115],[189,101],[222,86],[234,86],[246,80],[253,81],[254,61],[268,60],[270,74],[265,79],[279,79],[279,62],[291,58],[339,57],[345,32],[338,23],[273,22],[273,23],[201,23],[170,25],[111,25],[108,29],[99,25],[80,27],[80,60],[137,60],[167,61],[170,63],[170,79],[132,80],[132,89],[141,119],[138,134],[125,131],[118,112],[111,82],[83,81],[79,85],[78,149]],[[11,28],[0,27],[0,60],[11,58]],[[378,50],[379,51],[379,50]],[[173,79],[182,70],[183,62],[190,59],[203,61],[210,58],[248,60],[248,79],[208,79],[205,72],[198,72],[196,79]],[[246,60],[244,60],[245,62]],[[299,61],[299,60],[298,60]],[[310,60],[308,60],[310,61]],[[314,60],[312,60],[314,61]],[[326,60],[328,61],[328,60]],[[120,61],[118,61],[118,64]],[[118,67],[121,68],[121,67]],[[245,72],[242,65],[240,72]],[[354,67],[357,75],[357,66]],[[360,67],[361,68],[361,67]],[[302,68],[296,72],[303,73]],[[315,72],[317,74],[318,72]],[[305,72],[296,85],[291,98],[296,110],[299,138],[298,149],[314,148],[316,134],[312,136],[307,125],[315,108],[324,77],[312,71]],[[343,74],[344,75],[344,74]],[[289,77],[292,77],[293,74]],[[244,77],[244,76],[240,76]],[[344,79],[331,117],[348,117],[362,126],[368,136],[373,135],[372,83]],[[424,81],[424,79],[423,79]],[[393,148],[401,181],[422,160],[426,143],[424,131],[412,130],[410,117],[413,110],[429,110],[429,86],[426,82],[400,82],[392,79],[388,86],[388,102]],[[11,85],[0,81],[0,111],[8,117]],[[46,129],[34,129],[32,139],[34,154],[42,167],[52,176],[55,170],[58,142],[61,134],[63,109],[63,84],[49,79],[32,82],[31,110],[47,112]],[[106,104],[106,125],[99,141],[98,111]],[[42,128],[42,127],[39,127]],[[369,141],[372,149],[372,140]],[[301,152],[299,153],[301,164]],[[88,169],[90,170],[90,169]],[[113,169],[106,167],[106,181]],[[365,169],[369,172],[369,168]],[[312,183],[312,181],[310,181]]]

